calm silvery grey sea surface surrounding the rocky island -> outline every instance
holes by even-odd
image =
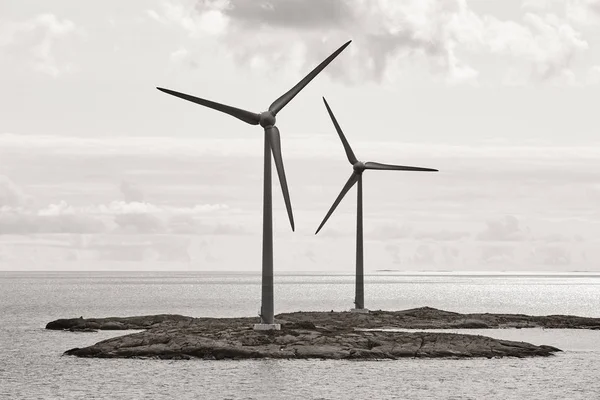
[[[365,281],[370,309],[600,317],[600,275]],[[353,290],[353,276],[280,275],[276,312],[347,310]],[[57,318],[253,316],[259,307],[259,275],[0,272],[0,399],[600,399],[600,331],[462,331],[565,350],[543,359],[349,362],[79,359],[61,354],[122,333],[44,330]]]

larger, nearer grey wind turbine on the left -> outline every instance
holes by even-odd
[[[265,145],[264,145],[264,188],[263,188],[263,246],[262,246],[262,299],[260,309],[261,323],[256,324],[254,329],[271,330],[279,329],[279,324],[274,323],[274,305],[273,305],[273,203],[271,190],[271,153],[279,175],[279,182],[283,192],[285,207],[290,219],[292,231],[294,230],[294,216],[292,215],[292,204],[285,179],[285,171],[283,169],[283,159],[281,156],[281,139],[279,129],[275,126],[275,116],[285,107],[300,91],[308,85],[334,58],[336,58],[348,45],[351,40],[337,49],[333,54],[327,57],[321,64],[313,69],[300,82],[275,100],[268,111],[259,114],[251,111],[242,110],[239,108],[227,106],[225,104],[216,103],[214,101],[201,99],[190,96],[188,94],[175,92],[169,89],[158,87],[157,89],[167,94],[179,97],[184,100],[191,101],[201,106],[212,108],[213,110],[221,111],[229,114],[237,119],[240,119],[250,125],[259,125],[264,128]]]

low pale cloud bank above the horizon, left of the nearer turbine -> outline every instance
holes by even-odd
[[[128,200],[143,197],[133,185],[123,183]],[[229,213],[224,204],[192,207],[155,205],[141,201],[111,201],[107,204],[73,206],[66,201],[33,207],[31,197],[9,178],[0,176],[0,235],[9,234],[247,234],[240,226],[207,216]]]

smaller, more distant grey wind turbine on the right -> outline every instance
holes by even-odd
[[[350,179],[346,182],[346,185],[340,192],[339,196],[333,202],[333,205],[325,215],[323,222],[319,225],[319,228],[315,232],[315,235],[319,233],[325,222],[329,219],[333,211],[336,209],[340,201],[344,198],[346,193],[354,186],[356,182],[358,182],[358,195],[356,202],[356,283],[355,283],[355,298],[354,304],[355,308],[351,311],[353,312],[369,312],[368,309],[365,309],[365,290],[364,290],[364,269],[363,269],[363,224],[362,224],[362,174],[367,169],[377,169],[384,171],[426,171],[426,172],[437,172],[437,169],[431,168],[420,168],[420,167],[405,167],[402,165],[390,165],[390,164],[380,164],[376,162],[362,162],[358,161],[350,144],[346,140],[344,133],[342,132],[342,128],[338,124],[331,108],[329,108],[329,104],[327,104],[327,100],[323,97],[323,102],[325,102],[325,107],[327,107],[327,112],[329,113],[329,117],[331,117],[331,121],[333,121],[333,126],[340,136],[342,140],[342,144],[344,145],[344,149],[346,150],[346,156],[348,157],[348,161],[352,164],[352,175],[350,175]]]

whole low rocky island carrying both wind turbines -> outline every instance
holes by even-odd
[[[95,331],[143,329],[67,350],[98,358],[397,359],[550,356],[551,346],[480,335],[394,332],[386,329],[571,328],[600,329],[600,318],[565,315],[459,314],[422,307],[404,311],[294,312],[276,316],[280,331],[255,331],[257,318],[192,318],[181,315],[59,319],[46,329]]]

